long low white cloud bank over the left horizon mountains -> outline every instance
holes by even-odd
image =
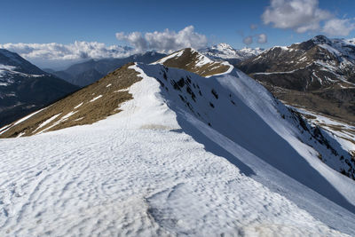
[[[40,67],[62,67],[83,59],[123,58],[133,53],[129,47],[105,43],[5,43],[0,48],[15,51]]]

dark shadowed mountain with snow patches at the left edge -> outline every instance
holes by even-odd
[[[0,49],[0,126],[77,90],[17,53]]]

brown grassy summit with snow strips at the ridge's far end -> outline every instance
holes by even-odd
[[[217,61],[205,64],[201,67],[196,67],[201,54],[197,51],[193,51],[191,48],[187,48],[182,51],[184,52],[180,57],[167,59],[163,65],[166,67],[177,67],[184,69],[201,76],[221,74],[225,73],[229,69],[229,66]]]

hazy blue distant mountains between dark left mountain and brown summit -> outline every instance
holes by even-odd
[[[66,80],[68,83],[83,87],[98,81],[104,75],[107,75],[118,67],[122,67],[126,63],[133,61],[151,63],[158,59],[162,59],[164,56],[166,56],[166,54],[147,51],[122,59],[91,59],[83,63],[72,65],[62,71],[53,71],[51,69],[44,70]]]

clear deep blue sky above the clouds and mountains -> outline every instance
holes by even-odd
[[[304,31],[304,26],[301,25],[306,22],[299,22],[302,21],[302,16],[296,14],[295,19],[292,18],[295,22],[288,24],[290,20],[287,15],[278,15],[277,11],[286,11],[287,4],[292,1],[296,4],[311,2],[315,9],[312,17],[319,27],[306,26],[305,28],[311,29]],[[280,8],[272,9],[272,2],[281,2]],[[193,32],[206,36],[208,44],[224,42],[235,48],[246,45],[268,48],[301,42],[319,34],[336,36],[328,34],[331,32],[329,29],[324,29],[327,20],[332,19],[337,19],[338,23],[343,20],[340,23],[343,22],[345,31],[346,28],[351,28],[349,32],[341,31],[341,35],[335,32],[338,37],[355,37],[355,31],[352,30],[355,28],[355,1],[352,0],[3,0],[1,8],[0,44],[69,44],[85,41],[106,45],[132,45],[132,41],[128,39],[131,32],[140,32],[144,37],[146,32],[162,32],[166,28],[170,29],[170,32],[178,32],[193,26]],[[308,8],[297,11],[302,13]],[[271,14],[265,20],[262,15],[267,9]],[[269,23],[265,24],[267,20]],[[286,26],[281,24],[282,20],[286,22]],[[256,28],[250,28],[252,24]],[[331,26],[333,28],[330,27],[330,30],[334,29],[334,24]],[[115,34],[119,32],[127,37],[121,37],[121,41],[117,40]],[[266,43],[256,42],[260,34],[267,37]],[[248,36],[251,36],[253,43],[243,43],[243,39]],[[136,45],[135,42],[133,45]]]

